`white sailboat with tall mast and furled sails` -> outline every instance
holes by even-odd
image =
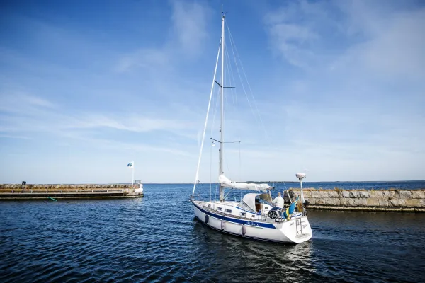
[[[221,51],[220,51],[221,50]],[[217,66],[221,52],[221,79],[218,83],[215,79]],[[287,207],[273,207],[271,190],[273,187],[266,183],[239,183],[227,178],[223,171],[224,156],[224,91],[225,91],[225,13],[222,13],[222,34],[220,46],[217,52],[217,61],[215,63],[214,79],[212,80],[210,102],[208,103],[205,127],[203,130],[202,142],[200,145],[200,154],[198,158],[198,168],[196,169],[195,183],[190,202],[196,218],[205,226],[208,226],[223,233],[251,238],[260,241],[273,241],[278,243],[302,243],[312,238],[312,228],[307,219],[306,203],[302,193],[302,179],[305,173],[298,173],[296,177],[300,180],[300,195],[292,201],[288,194],[290,204]],[[220,144],[218,183],[220,186],[219,200],[200,200],[195,195],[196,185],[199,183],[198,174],[200,160],[205,141],[205,132],[208,124],[208,115],[210,112],[211,98],[215,84],[220,87],[220,140],[214,139],[213,142]],[[212,144],[214,146],[214,144]],[[225,196],[227,190],[247,190],[251,191],[241,197],[239,202],[229,201]],[[241,191],[242,192],[242,191]],[[288,191],[286,191],[288,192]]]

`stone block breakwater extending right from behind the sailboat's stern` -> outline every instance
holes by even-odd
[[[290,188],[290,197],[300,195],[300,188]],[[303,189],[310,209],[425,212],[425,190],[317,190]],[[285,202],[289,202],[285,194]]]

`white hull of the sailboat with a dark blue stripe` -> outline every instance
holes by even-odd
[[[203,206],[206,202],[196,200],[191,200],[191,202],[196,218],[212,229],[224,233],[280,243],[302,243],[312,238],[312,229],[307,216],[300,215],[282,222],[275,222],[273,219],[252,220],[214,212]],[[206,215],[208,216],[205,217]]]

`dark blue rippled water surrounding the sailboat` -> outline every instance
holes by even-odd
[[[0,282],[425,281],[425,214],[311,210],[311,241],[263,243],[200,224],[191,190],[0,202]]]

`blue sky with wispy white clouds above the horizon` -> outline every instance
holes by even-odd
[[[2,1],[0,183],[192,182],[221,4]],[[224,4],[255,98],[227,94],[229,178],[425,179],[424,2]]]

